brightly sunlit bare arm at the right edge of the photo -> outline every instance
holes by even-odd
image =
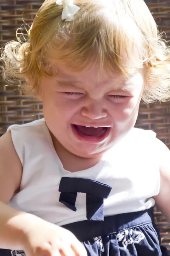
[[[156,205],[170,222],[170,150],[164,143],[156,139],[160,163],[160,191],[154,197]]]

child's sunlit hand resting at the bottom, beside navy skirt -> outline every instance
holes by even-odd
[[[87,256],[70,231],[43,220],[28,227],[23,247],[26,256]]]

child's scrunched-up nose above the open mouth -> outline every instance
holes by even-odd
[[[91,102],[88,102],[88,104],[82,108],[81,114],[84,117],[96,120],[106,117],[107,111],[105,108],[103,108],[101,101],[91,99]]]

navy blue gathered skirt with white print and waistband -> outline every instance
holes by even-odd
[[[104,221],[79,221],[62,226],[84,244],[88,256],[170,256],[161,246],[153,207],[108,216]],[[0,256],[25,256],[24,251],[0,249]]]

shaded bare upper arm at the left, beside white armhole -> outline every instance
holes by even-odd
[[[0,201],[7,204],[19,189],[23,167],[15,151],[11,131],[0,137]]]

